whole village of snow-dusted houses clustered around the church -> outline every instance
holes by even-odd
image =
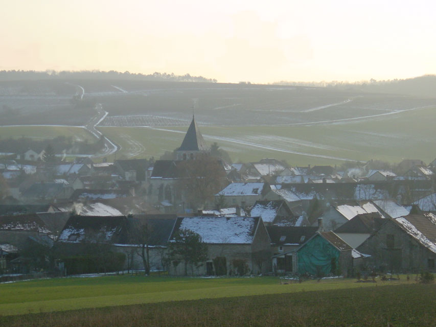
[[[65,162],[47,148],[1,159],[0,281],[436,269],[436,159],[232,164],[194,116],[180,141],[158,160]]]

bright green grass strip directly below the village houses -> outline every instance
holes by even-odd
[[[0,285],[0,315],[410,283],[405,276],[395,282],[356,283],[355,279],[323,279],[320,282],[306,281],[289,285],[281,285],[278,277],[172,278],[124,275],[54,278]]]

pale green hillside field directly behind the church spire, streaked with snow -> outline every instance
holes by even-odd
[[[230,153],[234,161],[265,157],[290,165],[338,164],[337,158],[400,162],[403,158],[434,159],[436,108],[379,116],[368,120],[293,126],[200,126],[209,144]],[[183,127],[100,127],[121,146],[117,156],[159,157],[180,146]],[[142,145],[141,149],[138,145]],[[296,153],[293,153],[296,152]]]

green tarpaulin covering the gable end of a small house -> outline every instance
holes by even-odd
[[[339,267],[339,250],[319,235],[307,242],[297,254],[299,274],[336,274]]]

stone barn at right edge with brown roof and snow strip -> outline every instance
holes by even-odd
[[[357,249],[371,254],[371,264],[380,271],[434,271],[436,216],[412,214],[385,219],[384,224]]]

